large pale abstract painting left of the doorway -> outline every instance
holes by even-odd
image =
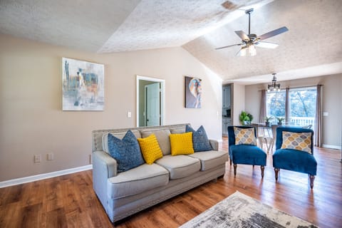
[[[62,63],[63,110],[103,110],[104,65],[72,58]]]

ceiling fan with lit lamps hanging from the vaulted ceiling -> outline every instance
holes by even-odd
[[[248,35],[244,33],[244,31],[235,31],[237,33],[237,36],[242,39],[242,43],[237,43],[229,46],[223,46],[220,48],[215,48],[215,50],[223,49],[223,48],[229,48],[232,46],[242,46],[240,51],[237,53],[237,56],[255,56],[257,55],[257,50],[255,49],[255,46],[260,48],[276,48],[278,44],[276,43],[270,43],[270,42],[263,42],[266,38],[270,38],[272,36],[279,35],[280,33],[284,33],[286,31],[289,31],[286,26],[278,28],[273,31],[269,31],[268,33],[264,33],[261,36],[257,36],[256,34],[251,34],[251,13],[253,12],[253,9],[247,9],[244,11],[246,14],[248,14]]]

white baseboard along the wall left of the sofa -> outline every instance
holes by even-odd
[[[85,165],[85,166],[81,166],[81,167],[71,168],[68,170],[59,170],[56,172],[47,172],[47,173],[43,173],[43,174],[39,174],[39,175],[33,175],[33,176],[29,176],[29,177],[21,177],[21,178],[16,178],[16,179],[12,179],[12,180],[5,180],[5,181],[0,182],[0,188],[1,187],[9,187],[9,186],[13,186],[13,185],[21,185],[21,184],[33,182],[36,180],[44,180],[44,179],[48,179],[51,177],[58,177],[61,175],[67,175],[67,174],[71,174],[74,172],[81,172],[81,171],[92,170],[92,169],[93,169],[93,165]]]

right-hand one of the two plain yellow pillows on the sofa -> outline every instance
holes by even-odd
[[[182,134],[170,134],[171,155],[191,155],[194,153],[192,146],[192,132]]]

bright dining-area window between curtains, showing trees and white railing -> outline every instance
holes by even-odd
[[[311,128],[314,129],[316,93],[316,87],[290,89],[289,110],[285,108],[286,90],[266,93],[266,115],[268,117],[274,117],[272,123],[276,123],[276,118],[285,119],[287,112],[289,113],[289,120],[285,124],[299,126],[311,125]]]

